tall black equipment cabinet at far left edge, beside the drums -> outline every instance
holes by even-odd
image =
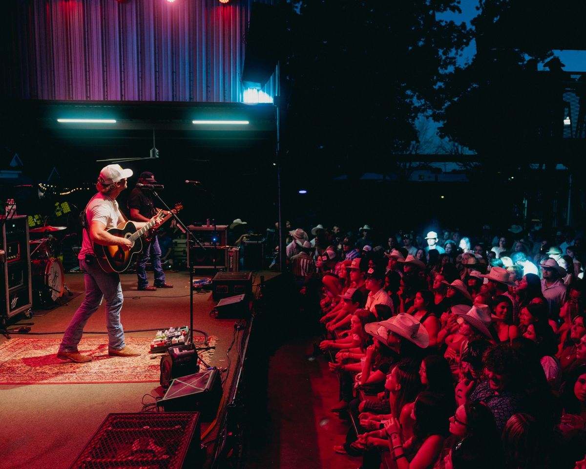
[[[0,217],[2,225],[2,249],[6,261],[0,263],[2,305],[0,315],[12,316],[29,310],[32,306],[30,285],[30,247],[28,217]]]

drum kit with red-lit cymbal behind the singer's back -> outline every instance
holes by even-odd
[[[30,240],[30,275],[33,304],[50,308],[63,296],[63,291],[72,294],[65,284],[63,264],[59,259],[66,226],[39,226],[29,230],[31,235],[42,235]]]

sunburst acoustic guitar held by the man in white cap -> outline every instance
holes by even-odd
[[[175,205],[173,212],[178,212],[183,206],[178,203]],[[137,230],[137,227],[132,222],[126,222],[121,228],[110,228],[107,230],[110,235],[119,236],[131,240],[132,247],[130,250],[125,251],[120,246],[109,246],[103,244],[94,243],[94,253],[98,264],[105,273],[111,274],[114,272],[124,272],[130,266],[132,258],[142,251],[142,239],[141,236],[149,233],[149,230],[155,226],[157,220],[161,220],[161,225],[165,223],[169,218],[173,216],[172,213],[161,218],[163,210],[159,210],[155,217],[148,223],[145,224],[141,229]]]

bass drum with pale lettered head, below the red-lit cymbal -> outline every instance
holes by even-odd
[[[40,307],[52,306],[63,296],[63,264],[59,259],[32,259],[30,266],[33,303]]]

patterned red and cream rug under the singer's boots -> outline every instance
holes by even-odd
[[[204,346],[203,336],[193,338],[196,346]],[[0,384],[54,385],[79,383],[144,383],[159,381],[159,357],[150,354],[152,338],[127,337],[126,344],[143,354],[130,358],[108,355],[108,338],[83,338],[78,346],[93,360],[87,363],[64,362],[57,358],[61,338],[16,338],[0,345]],[[217,337],[209,337],[209,346]],[[199,351],[210,363],[214,349]],[[204,366],[200,362],[200,366]]]

